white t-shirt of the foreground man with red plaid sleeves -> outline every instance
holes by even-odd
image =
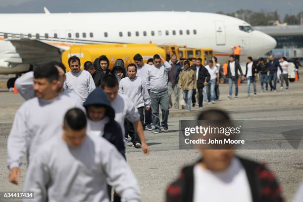
[[[246,171],[238,158],[223,172],[194,167],[194,202],[253,202]]]

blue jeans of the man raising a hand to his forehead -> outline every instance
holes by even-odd
[[[167,90],[160,93],[153,93],[151,91],[151,100],[152,120],[155,129],[160,129],[159,105],[162,111],[161,126],[167,126],[167,119],[169,114],[169,99]]]

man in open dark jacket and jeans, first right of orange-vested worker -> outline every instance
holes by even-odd
[[[251,95],[251,83],[253,83],[253,95],[256,96],[255,76],[257,75],[257,69],[253,63],[253,57],[247,58],[245,77],[247,79],[247,96]]]

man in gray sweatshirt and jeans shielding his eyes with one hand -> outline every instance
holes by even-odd
[[[164,61],[164,64],[161,63]],[[162,111],[161,126],[164,132],[168,131],[167,119],[169,114],[169,98],[167,92],[168,72],[171,70],[169,62],[162,56],[155,54],[153,56],[154,64],[147,71],[147,86],[151,89],[152,100],[152,119],[154,122],[154,133],[160,133],[159,105]]]

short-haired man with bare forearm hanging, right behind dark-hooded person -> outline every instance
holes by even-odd
[[[124,120],[126,118],[134,124],[134,128],[142,143],[142,151],[148,155],[149,147],[145,141],[143,126],[140,121],[138,109],[133,101],[131,101],[127,96],[120,93],[118,94],[119,83],[117,78],[112,74],[105,75],[101,81],[101,88],[111,102],[112,108],[115,110],[115,121],[119,123],[122,129],[122,134],[125,134]]]

